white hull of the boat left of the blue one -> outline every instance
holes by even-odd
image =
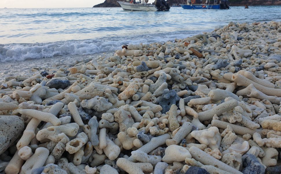
[[[134,11],[157,11],[156,6],[150,4],[133,4],[123,1],[117,1],[123,10],[134,10]]]

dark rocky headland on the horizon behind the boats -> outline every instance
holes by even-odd
[[[120,0],[122,1],[122,0]],[[280,0],[228,0],[230,3],[230,6],[244,6],[247,4],[248,6],[277,6],[281,5]],[[169,4],[181,4],[183,3],[183,0],[168,0]],[[186,0],[184,0],[184,3],[186,3]],[[119,3],[117,3],[117,0],[105,0],[103,3],[97,4],[94,7],[120,7]]]

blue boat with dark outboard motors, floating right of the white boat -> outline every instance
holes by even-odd
[[[179,4],[183,9],[229,9],[228,0],[187,0],[186,4]],[[218,3],[219,2],[219,3]]]

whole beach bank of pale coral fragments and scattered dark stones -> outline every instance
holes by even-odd
[[[6,77],[7,174],[281,173],[281,22]]]

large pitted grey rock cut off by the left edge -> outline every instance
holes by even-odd
[[[0,116],[0,154],[20,136],[24,128],[21,117],[16,115]]]

